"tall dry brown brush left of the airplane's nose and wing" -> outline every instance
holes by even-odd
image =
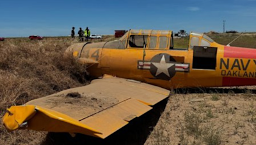
[[[72,43],[76,41],[53,38],[8,39],[0,43],[1,118],[7,107],[86,83],[85,67],[63,58]],[[45,137],[45,133],[33,131],[7,133],[3,125],[0,130],[0,144],[38,144]]]

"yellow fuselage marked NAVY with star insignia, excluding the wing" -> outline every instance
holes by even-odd
[[[163,49],[150,48],[148,43],[134,48],[130,36],[124,48],[92,43],[75,52],[79,59],[97,62],[89,63],[87,68],[95,77],[111,74],[167,89],[256,85],[256,50],[223,46],[207,39],[204,34],[191,34],[189,48],[179,49],[171,46],[172,35],[170,38],[169,46]],[[193,38],[199,39],[200,43],[193,44]],[[74,50],[72,52],[74,55]]]

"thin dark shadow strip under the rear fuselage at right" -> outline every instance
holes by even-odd
[[[256,93],[256,89],[246,88],[179,88],[173,90],[175,93]]]

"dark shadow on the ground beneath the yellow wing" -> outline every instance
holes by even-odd
[[[166,107],[168,99],[164,99],[154,106],[154,108],[148,113],[143,114],[140,118],[136,118],[129,122],[128,125],[121,128],[114,134],[110,135],[106,139],[98,139],[83,134],[77,134],[76,137],[71,137],[67,133],[49,133],[45,138],[45,141],[41,145],[46,144],[144,144],[148,135],[152,132],[156,126],[161,113],[163,113]]]

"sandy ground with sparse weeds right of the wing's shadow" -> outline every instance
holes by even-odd
[[[256,144],[253,88],[172,95],[145,144]]]

